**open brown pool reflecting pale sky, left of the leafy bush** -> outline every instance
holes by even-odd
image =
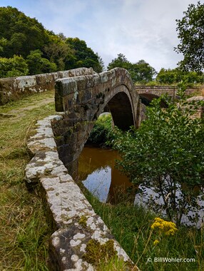
[[[86,146],[78,160],[79,180],[103,203],[116,198],[116,190],[131,186],[126,176],[115,168],[120,156],[116,150]]]

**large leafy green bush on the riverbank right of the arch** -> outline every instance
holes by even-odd
[[[138,193],[148,197],[147,189],[156,193],[148,198],[149,207],[166,213],[179,225],[184,214],[199,208],[198,193],[204,178],[204,127],[202,119],[190,118],[188,105],[181,89],[180,100],[169,101],[160,108],[161,97],[148,108],[148,118],[136,130],[115,131],[113,147],[121,153],[118,167],[132,183],[141,185]],[[156,203],[161,199],[162,203]],[[196,216],[195,216],[196,218]]]

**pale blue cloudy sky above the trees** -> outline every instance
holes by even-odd
[[[202,0],[200,1],[203,2]],[[55,34],[86,41],[108,65],[118,53],[136,63],[143,59],[156,71],[176,68],[176,19],[196,0],[0,0],[36,18]]]

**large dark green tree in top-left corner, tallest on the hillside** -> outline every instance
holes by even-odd
[[[48,41],[44,26],[11,6],[0,7],[0,39],[6,39],[1,57],[14,54],[26,57],[30,51],[42,48]]]

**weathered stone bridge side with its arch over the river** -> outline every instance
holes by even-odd
[[[143,106],[131,77],[123,68],[103,73],[93,71],[83,76],[56,80],[56,111],[66,112],[53,123],[58,153],[64,165],[77,160],[94,122],[103,111],[110,111],[113,123],[126,131],[138,127]]]

